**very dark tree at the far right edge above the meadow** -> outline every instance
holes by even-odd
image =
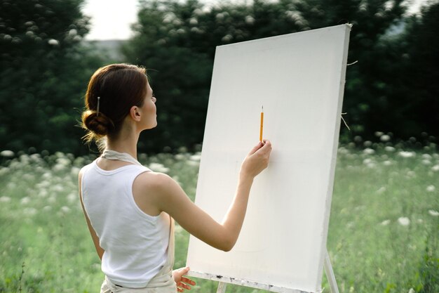
[[[388,36],[377,48],[374,95],[381,101],[371,124],[391,129],[397,137],[438,136],[439,2],[401,23],[405,30]],[[398,126],[398,127],[395,127]]]

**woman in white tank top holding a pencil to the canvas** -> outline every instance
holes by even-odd
[[[114,64],[93,74],[83,127],[88,142],[104,138],[102,155],[79,172],[79,196],[105,292],[183,292],[189,268],[173,271],[173,219],[212,247],[229,251],[238,239],[253,178],[267,167],[271,143],[245,157],[234,201],[217,223],[166,174],[137,162],[140,132],[157,125],[156,98],[145,70]]]

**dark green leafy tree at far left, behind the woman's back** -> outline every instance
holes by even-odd
[[[0,149],[79,152],[90,68],[102,64],[81,46],[83,0],[2,0]]]

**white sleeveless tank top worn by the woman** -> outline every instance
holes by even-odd
[[[81,193],[102,256],[102,272],[123,287],[146,287],[168,255],[170,216],[145,214],[135,203],[133,182],[151,171],[131,164],[112,171],[96,161],[83,169]]]

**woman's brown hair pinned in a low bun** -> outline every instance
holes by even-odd
[[[115,136],[131,107],[142,107],[147,94],[146,70],[130,64],[112,64],[96,70],[88,83],[83,139],[90,143],[104,136]],[[100,97],[97,113],[97,97]]]

